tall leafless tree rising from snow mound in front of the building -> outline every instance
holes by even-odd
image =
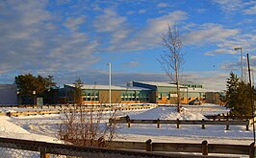
[[[180,69],[184,64],[184,53],[182,52],[182,39],[178,28],[167,24],[168,30],[162,34],[164,53],[158,59],[166,72],[166,75],[176,84],[177,91],[177,112],[180,112]]]

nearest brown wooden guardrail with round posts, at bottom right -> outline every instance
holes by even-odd
[[[250,146],[245,145],[221,145],[208,144],[203,141],[201,144],[189,143],[152,143],[149,139],[146,142],[112,142],[113,148],[129,148],[129,149],[145,149],[147,151],[164,151],[164,152],[197,152],[202,155],[209,153],[224,153],[224,154],[244,154],[254,157],[255,144]]]

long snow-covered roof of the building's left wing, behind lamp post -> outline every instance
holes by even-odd
[[[75,84],[64,84],[70,87],[75,87]],[[100,90],[109,90],[110,86],[109,85],[100,85],[100,84],[84,84],[82,86],[82,89],[100,89]],[[148,88],[141,88],[141,87],[136,87],[136,86],[119,86],[119,85],[111,85],[112,90],[151,90]]]

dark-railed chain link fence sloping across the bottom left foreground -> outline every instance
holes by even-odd
[[[170,158],[161,153],[146,151],[109,149],[99,147],[77,147],[37,141],[0,138],[1,158]]]

